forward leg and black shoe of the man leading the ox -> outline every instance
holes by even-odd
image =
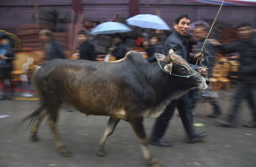
[[[202,138],[204,138],[208,133],[196,133],[193,125],[193,115],[189,105],[188,94],[185,94],[179,99],[177,108],[179,110],[182,124],[186,130],[186,133],[188,134],[187,142],[194,143],[202,140]]]

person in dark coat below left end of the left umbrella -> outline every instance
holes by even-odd
[[[96,61],[94,47],[92,43],[87,40],[86,32],[79,31],[77,33],[77,40],[79,41],[79,59]]]

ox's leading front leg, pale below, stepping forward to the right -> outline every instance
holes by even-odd
[[[135,119],[130,120],[129,122],[132,125],[138,138],[140,139],[143,156],[147,160],[147,163],[149,163],[150,166],[152,166],[152,167],[159,167],[160,166],[159,163],[157,162],[156,159],[154,159],[151,156],[150,151],[148,150],[148,146],[147,146],[148,140],[146,137],[144,126],[143,126],[143,118],[135,118]]]

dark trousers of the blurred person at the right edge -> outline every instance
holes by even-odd
[[[256,85],[253,83],[241,83],[238,85],[234,99],[232,99],[230,107],[229,120],[236,119],[239,106],[241,105],[244,98],[247,98],[248,104],[252,110],[253,120],[256,121]]]

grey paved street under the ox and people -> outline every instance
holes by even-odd
[[[221,91],[221,107],[227,111],[232,92]],[[49,127],[45,122],[40,126],[38,142],[29,141],[30,127],[20,126],[19,122],[39,106],[38,101],[0,101],[0,167],[102,167],[102,166],[147,166],[143,159],[138,138],[131,126],[120,121],[115,133],[106,142],[106,157],[97,156],[99,141],[108,122],[108,117],[89,116],[61,108],[58,127],[63,142],[73,153],[72,157],[61,157],[54,148]],[[172,167],[254,167],[256,166],[256,129],[242,127],[241,123],[250,120],[247,103],[241,107],[241,120],[237,128],[216,126],[216,119],[205,117],[211,112],[209,103],[196,106],[195,123],[198,131],[208,131],[204,142],[185,143],[185,133],[179,117],[173,117],[164,138],[172,141],[168,148],[150,145],[152,155],[161,166]],[[145,119],[147,134],[154,119]]]

